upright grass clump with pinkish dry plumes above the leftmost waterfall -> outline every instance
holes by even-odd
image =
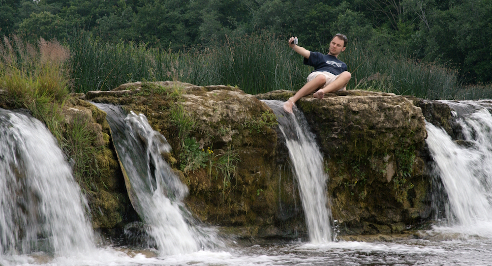
[[[38,47],[19,37],[3,36],[0,43],[0,89],[6,91],[3,104],[29,108],[39,98],[61,103],[68,93],[68,49],[58,42],[40,39]],[[32,111],[32,110],[31,110]]]

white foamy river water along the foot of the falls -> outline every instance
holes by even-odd
[[[328,242],[325,244],[272,244],[228,248],[224,251],[197,251],[189,254],[151,256],[148,252],[99,249],[90,254],[49,258],[42,254],[4,260],[4,266],[367,266],[367,265],[485,265],[490,243],[451,241],[434,245],[429,241],[402,243]],[[449,249],[449,250],[448,250]],[[460,251],[458,251],[460,250]],[[473,251],[475,250],[475,253]],[[458,252],[457,252],[458,251]],[[472,251],[470,253],[470,251]],[[144,255],[147,254],[147,255]],[[478,254],[478,256],[473,256]],[[464,260],[465,263],[462,261]]]

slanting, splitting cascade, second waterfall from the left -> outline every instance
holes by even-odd
[[[118,106],[96,105],[107,113],[113,144],[130,179],[130,200],[159,252],[183,254],[219,246],[215,231],[196,225],[185,210],[182,201],[188,189],[162,158],[171,150],[164,136],[142,114],[126,115]]]

